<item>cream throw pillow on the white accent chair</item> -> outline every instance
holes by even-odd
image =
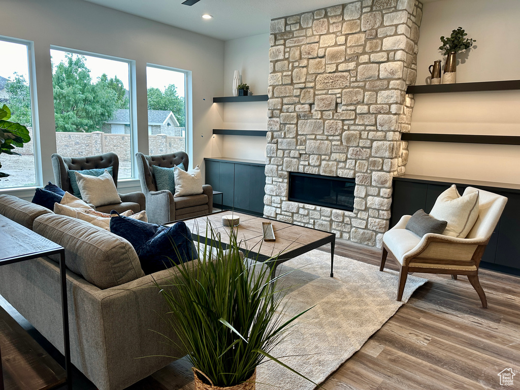
[[[478,191],[461,197],[453,184],[439,195],[430,216],[448,222],[443,235],[465,238],[478,217]]]

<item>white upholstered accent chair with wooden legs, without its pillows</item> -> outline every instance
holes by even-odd
[[[380,271],[390,252],[400,267],[397,301],[402,298],[408,272],[424,272],[452,275],[453,279],[466,275],[480,297],[482,307],[487,307],[486,295],[478,281],[478,266],[508,198],[473,187],[467,187],[464,195],[475,191],[479,193],[478,218],[466,238],[435,233],[419,237],[405,229],[410,215],[403,215],[384,233]]]

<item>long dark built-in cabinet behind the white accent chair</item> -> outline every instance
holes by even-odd
[[[460,179],[450,181],[446,178],[417,175],[397,176],[393,183],[390,226],[394,226],[401,216],[411,215],[419,209],[430,213],[439,194],[452,184],[457,185],[460,194],[466,187],[475,187],[508,198],[480,265],[520,275],[520,185]]]

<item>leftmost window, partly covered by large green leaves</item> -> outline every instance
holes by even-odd
[[[0,107],[7,105],[11,111],[9,121],[18,122],[29,129],[31,141],[16,148],[14,154],[0,154],[0,172],[8,177],[0,178],[0,189],[36,185],[34,152],[33,109],[31,100],[31,72],[29,60],[31,43],[0,38]]]

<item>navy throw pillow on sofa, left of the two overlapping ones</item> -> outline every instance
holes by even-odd
[[[110,218],[110,231],[129,241],[138,255],[141,246],[146,244],[160,228],[157,224],[119,215],[115,210],[110,214],[116,215]]]

